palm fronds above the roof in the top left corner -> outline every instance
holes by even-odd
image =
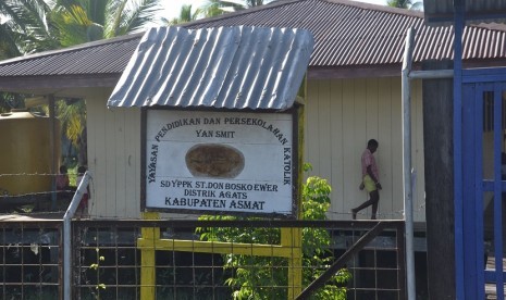
[[[3,0],[0,41],[20,53],[52,50],[144,29],[160,0]],[[10,36],[9,36],[10,35]]]

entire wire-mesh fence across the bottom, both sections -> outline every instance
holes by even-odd
[[[17,218],[0,226],[1,298],[61,299],[62,222]],[[159,228],[159,238],[141,241],[147,228]],[[226,250],[218,241],[202,246],[206,236],[197,228],[219,232],[229,241]],[[276,257],[280,228],[305,236],[301,252],[296,245]],[[318,243],[322,234],[329,245]],[[245,254],[245,245],[256,243],[248,238],[259,235],[270,241],[263,252]],[[343,299],[405,299],[400,221],[73,220],[72,239],[72,299],[141,299],[146,289],[157,300],[248,292],[255,299],[329,299],[336,289],[345,290]],[[314,245],[321,249],[311,249]],[[147,248],[155,252],[152,262],[143,257]],[[300,253],[320,258],[303,255],[293,268],[289,261]],[[294,287],[288,277],[297,273],[303,280]],[[335,274],[344,282],[334,280]]]

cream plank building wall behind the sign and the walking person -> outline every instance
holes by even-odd
[[[412,83],[412,166],[415,218],[424,220],[421,84]],[[140,217],[140,109],[108,109],[111,90],[87,96],[88,166],[94,174],[92,216]],[[332,220],[349,220],[365,201],[358,190],[360,154],[367,140],[380,142],[377,161],[383,185],[380,218],[403,217],[400,77],[308,80],[305,162],[308,175],[326,178],[333,188]],[[360,218],[369,217],[370,210]],[[181,216],[180,216],[181,217]]]

